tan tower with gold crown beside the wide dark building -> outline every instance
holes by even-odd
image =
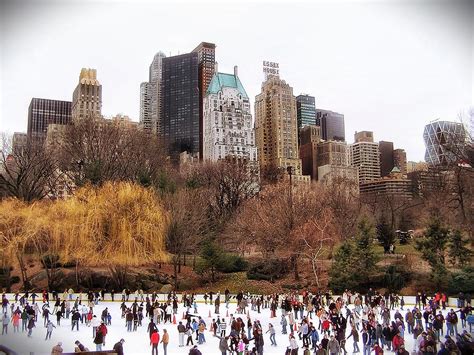
[[[95,69],[82,68],[79,83],[72,95],[72,119],[101,117],[102,85]]]

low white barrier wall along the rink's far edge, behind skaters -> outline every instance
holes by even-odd
[[[22,295],[22,294],[23,293],[20,293],[20,295]],[[7,295],[8,300],[10,300],[10,301],[13,301],[15,299],[15,294],[13,294],[13,293],[7,293],[6,295]],[[62,300],[63,293],[59,293],[58,295],[59,295],[59,297],[61,297],[61,300]],[[151,298],[151,293],[149,293],[148,295]],[[168,294],[167,293],[157,293],[156,295],[157,295],[158,302],[165,302],[165,301],[168,300]],[[181,301],[182,294],[177,293],[176,295],[178,296],[178,300]],[[146,298],[146,296],[147,296],[147,294],[144,293],[144,298]],[[237,300],[235,299],[235,296],[236,296],[235,294],[231,294],[230,303],[237,303]],[[82,293],[82,294],[74,293],[74,294],[72,294],[71,301],[75,301],[77,297],[81,297],[80,300],[83,301],[83,302],[87,301],[87,293]],[[136,295],[134,293],[131,293],[130,296],[129,296],[128,302],[133,302],[135,300],[135,297],[136,297]],[[205,303],[203,294],[195,295],[195,297],[196,297],[196,302],[197,303]],[[340,295],[332,295],[331,297],[333,299],[336,299],[337,297],[341,297],[341,296]],[[42,299],[43,299],[42,295],[38,294],[38,297],[36,297],[36,301],[41,302]],[[49,299],[50,299],[50,302],[53,299],[51,293],[49,294]],[[300,296],[300,300],[302,300],[302,299],[303,299],[303,297]],[[353,297],[352,297],[352,299],[353,299]],[[414,306],[415,303],[416,303],[416,296],[403,296],[403,299],[405,301],[405,306]],[[29,300],[31,300],[31,297],[29,298]],[[215,300],[215,294],[213,295],[213,298],[212,298],[213,304],[214,304],[214,300]],[[221,300],[221,306],[223,304],[225,304],[224,294],[220,295],[220,300]],[[457,307],[457,302],[458,302],[457,300],[458,300],[457,297],[449,297],[447,306],[448,307]],[[138,301],[140,301],[140,296],[138,296]],[[110,296],[110,293],[106,293],[104,299],[100,300],[99,302],[112,302],[112,297]],[[121,293],[116,293],[114,295],[114,302],[119,302],[119,303],[122,302],[122,294]],[[209,303],[209,299],[207,300],[207,303]]]

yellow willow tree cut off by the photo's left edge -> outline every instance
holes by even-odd
[[[25,252],[31,240],[31,215],[31,207],[23,201],[12,198],[0,202],[1,266],[9,270],[17,262],[25,290],[30,287]]]

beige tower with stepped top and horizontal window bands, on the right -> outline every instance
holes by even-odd
[[[355,142],[350,147],[350,163],[359,170],[359,183],[380,178],[379,145],[369,131],[356,132]]]

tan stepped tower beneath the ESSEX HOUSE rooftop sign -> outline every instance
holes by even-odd
[[[301,175],[296,100],[293,88],[278,76],[268,76],[255,98],[255,128],[260,169],[292,167]]]

